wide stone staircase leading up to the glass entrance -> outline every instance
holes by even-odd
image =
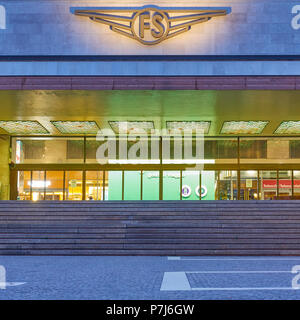
[[[0,255],[300,255],[300,201],[1,201]]]

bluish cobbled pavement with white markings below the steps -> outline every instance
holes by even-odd
[[[300,257],[0,256],[0,265],[0,299],[300,299],[291,272]]]

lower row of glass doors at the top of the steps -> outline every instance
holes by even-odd
[[[19,170],[18,200],[276,200],[300,197],[299,171]]]

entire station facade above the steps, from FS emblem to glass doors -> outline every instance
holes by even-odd
[[[2,200],[300,199],[300,5],[0,1]]]

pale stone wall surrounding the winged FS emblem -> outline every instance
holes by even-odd
[[[141,7],[149,4],[148,1],[0,0],[6,11],[5,29],[0,30],[0,54],[294,55],[300,52],[298,1],[153,0],[150,3],[160,7],[230,7],[232,12],[149,47],[70,11],[72,7]]]

